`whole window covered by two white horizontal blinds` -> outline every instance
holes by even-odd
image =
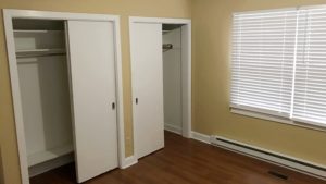
[[[326,126],[326,8],[234,14],[231,108]]]

